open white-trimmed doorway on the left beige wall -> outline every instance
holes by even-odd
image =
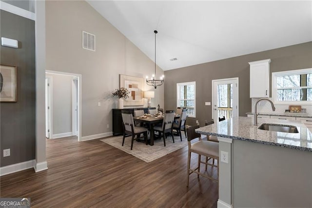
[[[59,93],[60,91],[61,93]],[[81,75],[46,70],[45,99],[46,137],[56,139],[68,136],[77,136],[78,141],[80,141]],[[65,102],[64,104],[66,105],[63,106],[61,102]],[[67,109],[66,112],[68,113],[64,113],[64,109]],[[54,120],[56,122],[55,124],[53,123]],[[65,131],[63,129],[65,128],[64,126],[67,126]]]

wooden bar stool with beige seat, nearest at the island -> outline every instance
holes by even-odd
[[[213,181],[218,182],[219,180],[219,144],[211,141],[201,140],[201,135],[195,132],[195,129],[199,128],[199,125],[196,126],[188,126],[187,131],[187,141],[188,141],[188,160],[187,160],[187,187],[189,186],[189,180],[190,175],[192,173],[197,174],[197,178],[199,178],[199,175],[211,179]],[[198,138],[198,141],[191,143],[193,139]],[[196,153],[198,154],[198,161],[197,161],[197,167],[195,169],[191,168],[191,154]],[[217,166],[215,164],[209,164],[207,162],[201,161],[201,155],[214,158],[217,160]],[[206,166],[213,166],[217,167],[218,172],[218,179],[214,179],[212,176],[209,176],[207,174],[203,174],[200,172],[200,164],[205,164]]]

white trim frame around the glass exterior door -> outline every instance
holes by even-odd
[[[231,82],[231,81],[234,81],[234,83],[237,83],[237,89],[235,90],[236,91],[236,96],[234,96],[233,98],[237,98],[235,101],[233,99],[233,117],[238,117],[239,116],[239,79],[238,77],[235,77],[235,78],[226,78],[226,79],[219,79],[219,80],[212,80],[211,83],[212,83],[212,108],[211,108],[211,111],[212,111],[212,119],[215,118],[215,92],[214,92],[214,88],[215,88],[215,82],[224,82],[224,83],[227,83],[227,82]],[[234,111],[234,105],[237,106],[237,108],[235,107],[235,111]],[[234,112],[235,112],[235,115],[234,115]]]

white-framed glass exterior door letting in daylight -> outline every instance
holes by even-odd
[[[215,122],[219,118],[238,117],[238,77],[212,81],[212,117]]]

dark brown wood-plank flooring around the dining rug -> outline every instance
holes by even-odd
[[[49,169],[0,177],[1,197],[30,197],[34,208],[216,207],[216,182],[192,174],[186,187],[187,146],[151,163],[99,140],[50,139],[46,146]],[[216,176],[215,167],[208,172]]]

